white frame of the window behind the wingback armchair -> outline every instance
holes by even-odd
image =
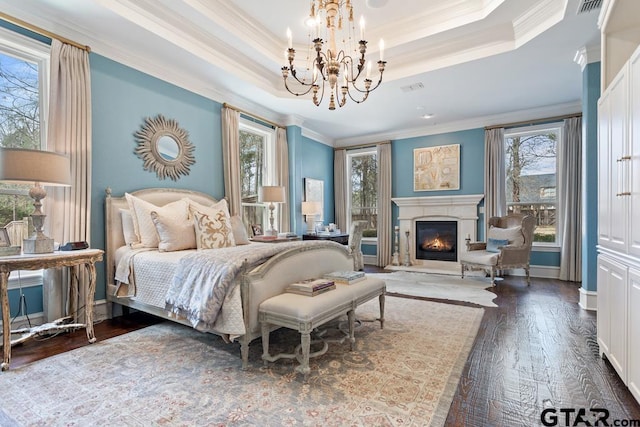
[[[560,227],[560,218],[561,212],[563,210],[563,206],[561,206],[560,199],[558,198],[558,150],[559,144],[562,141],[564,125],[562,122],[551,122],[551,123],[543,123],[538,125],[531,126],[518,126],[514,128],[505,129],[504,131],[504,153],[505,153],[505,166],[506,166],[506,152],[507,152],[507,139],[513,138],[515,136],[527,136],[527,135],[535,135],[541,133],[551,133],[554,132],[556,134],[556,170],[555,170],[555,208],[556,208],[556,239],[555,242],[532,242],[532,247],[535,248],[538,252],[557,252],[560,250],[560,245],[562,242],[562,230]],[[507,177],[505,176],[505,190],[506,190]],[[549,187],[545,187],[548,189]],[[506,198],[505,191],[505,198]],[[507,203],[507,211],[508,209],[508,201]],[[535,229],[534,229],[535,232]]]

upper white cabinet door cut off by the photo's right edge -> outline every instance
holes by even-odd
[[[629,60],[629,253],[640,257],[640,48]],[[635,219],[635,221],[634,221]]]

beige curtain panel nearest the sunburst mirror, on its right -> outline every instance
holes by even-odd
[[[224,195],[229,213],[242,216],[242,183],[240,181],[240,113],[222,108],[222,159],[224,163]]]

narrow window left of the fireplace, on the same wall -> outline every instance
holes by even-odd
[[[367,221],[363,238],[376,238],[378,226],[378,161],[376,149],[347,153],[347,226],[353,221]]]

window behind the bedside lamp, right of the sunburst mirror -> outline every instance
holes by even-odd
[[[242,222],[252,235],[251,225],[260,224],[263,229],[269,223],[269,211],[258,202],[258,189],[274,185],[275,131],[249,120],[240,120],[240,171],[242,179]],[[274,212],[274,216],[277,210]],[[277,224],[277,218],[275,219]]]

